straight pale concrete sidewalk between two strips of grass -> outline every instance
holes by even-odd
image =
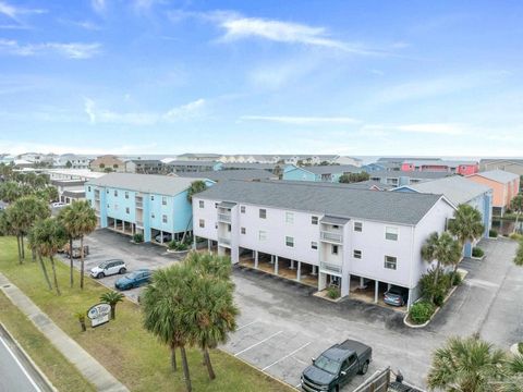
[[[8,298],[46,335],[47,339],[69,359],[98,391],[129,391],[84,348],[63,332],[40,310],[19,287],[0,273],[0,289]]]

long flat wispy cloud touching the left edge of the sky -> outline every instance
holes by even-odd
[[[90,59],[100,52],[101,45],[97,42],[44,42],[44,44],[19,44],[13,39],[0,39],[0,53],[14,56],[38,56],[57,53],[69,59]]]

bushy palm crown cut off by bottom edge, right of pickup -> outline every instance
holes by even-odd
[[[430,390],[490,392],[504,375],[506,354],[477,335],[450,338],[433,354]]]

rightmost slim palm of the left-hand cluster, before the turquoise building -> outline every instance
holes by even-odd
[[[70,215],[70,216],[69,216]],[[70,233],[80,238],[80,287],[84,289],[84,236],[96,229],[96,213],[87,200],[75,200],[71,204],[68,221],[74,225],[69,226]],[[71,248],[72,253],[72,248]]]

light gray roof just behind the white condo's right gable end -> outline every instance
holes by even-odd
[[[466,180],[460,175],[409,185],[408,187],[421,193],[443,194],[454,205],[469,203],[473,198],[490,191],[488,186]]]

